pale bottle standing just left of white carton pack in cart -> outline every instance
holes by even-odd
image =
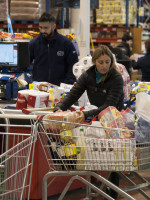
[[[78,137],[76,142],[77,148],[77,165],[76,169],[84,170],[85,169],[85,150],[86,150],[86,142],[84,138],[84,129],[80,129],[80,137]]]

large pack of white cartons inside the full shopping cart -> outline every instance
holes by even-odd
[[[135,139],[86,138],[85,169],[100,171],[135,171]]]

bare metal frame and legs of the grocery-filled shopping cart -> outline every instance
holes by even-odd
[[[46,121],[49,121],[49,120],[46,120]],[[56,123],[55,120],[50,120],[51,123]],[[42,135],[45,134],[46,137],[49,137],[46,130],[44,130],[43,128],[43,122],[41,122],[41,124],[39,124],[38,126],[42,127],[43,130],[41,130],[39,133],[38,133],[38,136],[40,138],[40,141],[41,141],[41,144],[42,144]],[[58,121],[57,121],[58,123]],[[64,123],[62,121],[60,121],[60,123]],[[76,125],[76,126],[81,126],[81,124],[76,124],[76,123],[67,123],[65,122],[66,124],[70,124],[70,125]],[[86,127],[88,125],[82,125],[83,127]],[[91,127],[91,125],[90,125]],[[95,127],[95,126],[93,126]],[[99,127],[95,127],[95,128],[99,128]],[[104,127],[101,127],[101,128],[104,128]],[[110,129],[110,128],[109,128]],[[122,129],[113,129],[112,130],[122,130]],[[123,131],[126,131],[126,130],[123,130]],[[132,131],[133,132],[133,131]],[[54,133],[53,133],[54,134]],[[41,135],[41,136],[40,136]],[[51,163],[50,163],[50,159],[51,161],[53,160],[53,158],[50,158],[49,155],[46,153],[46,150],[45,150],[45,147],[48,146],[48,145],[45,145],[44,147],[44,144],[43,145],[43,150],[44,150],[44,153],[45,153],[45,156],[46,156],[46,159],[47,159],[47,162],[48,162],[48,165],[49,165],[49,172],[47,174],[45,174],[44,178],[43,178],[43,184],[42,184],[42,199],[43,200],[46,200],[47,199],[47,187],[50,186],[53,181],[55,180],[56,177],[58,176],[71,176],[71,179],[68,181],[67,185],[65,186],[64,190],[62,191],[62,193],[60,194],[59,196],[59,200],[62,200],[65,196],[65,194],[67,193],[70,185],[73,183],[74,180],[79,180],[81,182],[83,182],[85,185],[86,185],[86,199],[90,199],[91,197],[93,196],[98,196],[98,195],[102,195],[103,197],[109,199],[109,200],[112,200],[113,198],[110,197],[108,194],[106,194],[104,191],[103,191],[103,188],[104,186],[107,186],[111,189],[113,189],[114,191],[116,191],[119,195],[125,197],[126,199],[131,199],[131,200],[134,200],[134,198],[129,195],[127,192],[128,191],[133,191],[133,190],[138,190],[146,199],[150,199],[150,197],[143,191],[143,188],[145,187],[150,187],[150,183],[145,180],[144,178],[142,178],[137,172],[135,172],[135,170],[133,171],[130,171],[130,173],[136,175],[137,178],[139,178],[142,183],[139,184],[139,185],[136,185],[136,183],[134,183],[129,177],[126,176],[126,174],[124,174],[123,172],[121,171],[116,171],[119,176],[121,176],[124,180],[128,181],[130,184],[132,184],[133,186],[130,186],[128,188],[119,188],[117,187],[116,185],[114,185],[113,183],[111,183],[108,178],[111,174],[111,171],[108,173],[108,176],[106,178],[102,177],[100,174],[96,173],[96,171],[93,171],[93,170],[57,170],[54,169],[52,166],[51,166]],[[148,143],[148,145],[150,145],[150,143]],[[47,147],[46,147],[47,148]],[[150,155],[149,155],[150,156]],[[98,171],[98,170],[97,170]],[[124,171],[124,170],[123,170]],[[83,176],[85,176],[86,178],[83,178]],[[91,177],[94,177],[96,178],[97,180],[99,180],[101,182],[101,186],[100,187],[96,187],[93,183],[91,183]],[[48,179],[49,178],[52,178],[52,181],[48,184]],[[96,193],[93,194],[91,192],[91,189],[94,190]]]

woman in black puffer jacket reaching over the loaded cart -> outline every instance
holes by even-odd
[[[67,96],[56,105],[54,112],[69,109],[84,91],[87,91],[90,103],[98,108],[90,111],[76,111],[78,114],[76,120],[79,122],[98,115],[108,106],[114,106],[119,111],[123,109],[123,79],[116,69],[112,52],[107,46],[101,45],[94,51],[92,62],[93,66],[81,74]],[[119,185],[117,173],[112,173],[111,182]],[[113,190],[109,191],[109,195],[117,198],[117,193]]]

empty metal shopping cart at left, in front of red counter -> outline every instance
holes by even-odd
[[[0,118],[0,200],[29,199],[36,122],[25,125],[26,116],[5,114],[2,110]],[[10,124],[10,119],[22,119],[23,123]]]

